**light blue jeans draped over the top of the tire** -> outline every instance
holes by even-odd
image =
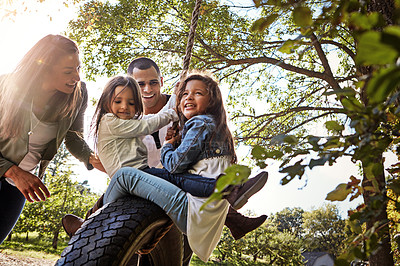
[[[186,192],[170,182],[133,167],[119,169],[111,179],[103,203],[127,195],[147,199],[162,208],[175,225],[186,234],[188,201]]]

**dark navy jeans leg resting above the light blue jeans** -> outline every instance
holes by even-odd
[[[189,173],[171,174],[166,169],[160,168],[145,168],[144,172],[161,177],[164,180],[181,188],[183,191],[189,192],[197,197],[209,197],[215,190],[215,178],[203,177]]]

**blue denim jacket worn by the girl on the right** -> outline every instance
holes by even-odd
[[[200,160],[232,155],[226,138],[218,132],[212,136],[215,130],[215,121],[211,115],[192,117],[183,127],[179,147],[175,149],[170,143],[162,147],[162,165],[170,173],[183,173]]]

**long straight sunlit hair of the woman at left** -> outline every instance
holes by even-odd
[[[47,35],[22,58],[13,72],[0,81],[0,138],[19,136],[32,111],[32,99],[54,65],[66,55],[79,54],[76,43],[61,35]],[[80,82],[72,94],[57,91],[48,103],[43,120],[72,116],[82,97]]]

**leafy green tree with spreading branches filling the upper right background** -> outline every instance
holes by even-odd
[[[363,180],[349,177],[327,197],[365,201],[351,215],[352,228],[366,224],[365,230],[343,259],[393,264],[383,152],[399,151],[399,1],[254,4],[204,1],[191,67],[210,69],[229,86],[237,139],[254,147],[261,168],[268,158],[282,160],[283,185],[342,156],[360,162]],[[70,36],[83,48],[92,79],[125,71],[143,55],[177,77],[192,7],[184,0],[91,0],[71,21]],[[325,132],[309,132],[316,122],[325,122]],[[390,186],[400,187],[396,179]]]

